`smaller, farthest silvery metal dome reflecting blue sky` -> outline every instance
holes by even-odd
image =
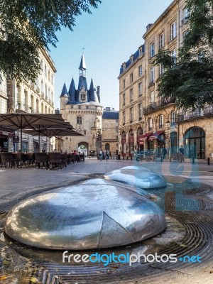
[[[146,168],[140,169],[140,167],[137,166],[113,170],[104,175],[104,178],[143,189],[162,188],[167,186],[166,180],[162,175],[157,175]]]

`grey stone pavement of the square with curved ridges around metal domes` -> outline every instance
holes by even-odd
[[[9,209],[27,197],[53,188],[71,185],[104,175],[126,165],[141,165],[165,175],[166,190],[153,190],[156,201],[165,210],[165,232],[143,242],[116,248],[117,253],[178,253],[178,256],[199,255],[202,263],[135,263],[99,266],[65,266],[58,258],[61,252],[32,249],[5,239],[2,226]],[[173,185],[175,187],[173,188]],[[213,283],[213,165],[200,162],[169,163],[131,160],[86,159],[68,165],[64,170],[35,168],[0,168],[0,283],[28,284],[33,276],[43,284],[93,283]],[[44,252],[45,251],[45,252]],[[109,253],[105,251],[105,253]],[[38,269],[35,269],[38,267]],[[18,273],[17,273],[18,271]],[[33,272],[34,271],[34,272]],[[34,282],[36,283],[36,282]]]

